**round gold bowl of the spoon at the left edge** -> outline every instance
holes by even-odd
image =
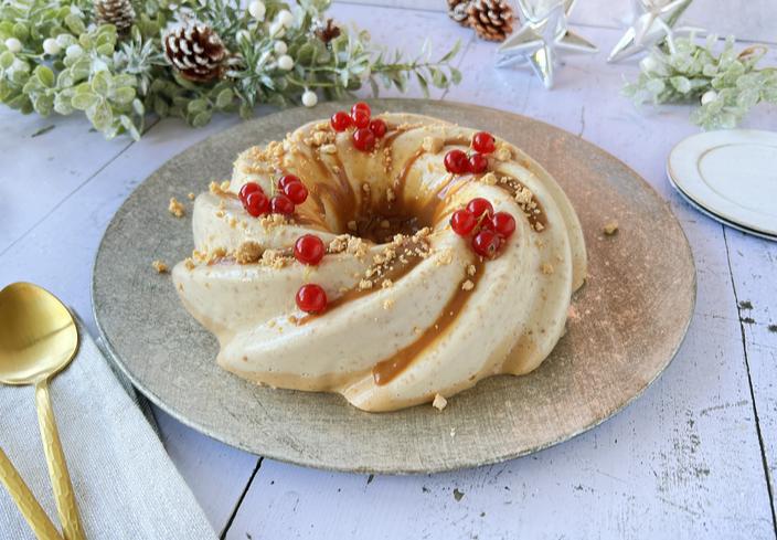
[[[73,316],[54,295],[29,283],[0,290],[0,382],[35,384],[49,379],[77,349]]]

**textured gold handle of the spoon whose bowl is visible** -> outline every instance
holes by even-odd
[[[62,452],[60,433],[54,422],[54,411],[51,407],[49,381],[45,379],[40,380],[35,384],[35,404],[38,405],[38,423],[41,427],[43,451],[49,464],[49,478],[51,478],[52,489],[54,490],[54,500],[56,501],[56,510],[60,513],[65,540],[85,540],[73,484],[71,484],[65,455]]]

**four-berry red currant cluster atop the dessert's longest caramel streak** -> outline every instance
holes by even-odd
[[[515,219],[507,212],[493,213],[493,207],[478,197],[450,216],[450,229],[459,236],[472,234],[472,251],[493,258],[502,244],[515,232]]]

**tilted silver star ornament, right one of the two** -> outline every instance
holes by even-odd
[[[667,40],[672,46],[674,33],[692,29],[677,29],[674,24],[692,0],[631,0],[631,20],[624,36],[616,43],[607,62],[627,59]]]

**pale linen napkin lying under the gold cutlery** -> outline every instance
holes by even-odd
[[[83,325],[78,333],[78,354],[51,399],[87,539],[215,539],[137,403]],[[0,446],[60,528],[32,387],[0,385]],[[0,539],[34,539],[1,486]]]

